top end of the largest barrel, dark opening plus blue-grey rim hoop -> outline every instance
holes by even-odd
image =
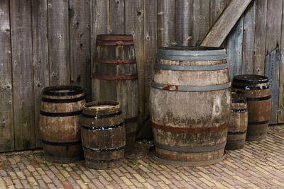
[[[158,58],[178,61],[219,60],[226,59],[226,50],[219,47],[160,47],[158,50]]]

